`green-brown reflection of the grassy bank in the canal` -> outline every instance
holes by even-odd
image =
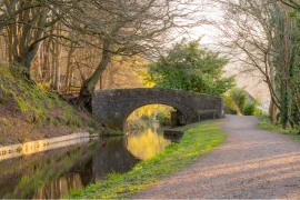
[[[1,162],[0,196],[13,200],[31,199],[39,187],[70,170],[87,146],[82,143]]]

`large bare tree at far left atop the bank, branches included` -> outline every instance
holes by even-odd
[[[9,61],[24,67],[27,79],[30,79],[31,62],[40,42],[49,37],[47,28],[58,21],[50,8],[49,3],[36,0],[6,0],[1,3],[0,29],[7,29]]]

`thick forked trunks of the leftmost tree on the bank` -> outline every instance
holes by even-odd
[[[22,10],[23,7],[28,7],[30,3],[32,3],[32,1],[6,1],[9,13],[21,10],[12,22],[7,26],[9,36],[9,61],[20,63],[20,71],[22,71],[24,79],[29,81],[31,81],[31,62],[39,50],[47,20],[46,8],[32,6],[32,8]],[[19,21],[21,21],[21,23]],[[38,28],[33,29],[32,27]]]

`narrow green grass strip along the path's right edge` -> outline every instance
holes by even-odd
[[[272,131],[272,132],[279,132],[282,134],[288,134],[293,140],[300,141],[300,130],[287,128],[283,129],[280,124],[274,124],[270,121],[269,117],[261,117],[259,122],[259,128]]]

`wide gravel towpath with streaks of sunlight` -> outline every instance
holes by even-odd
[[[300,200],[300,142],[227,116],[227,141],[130,199]]]

